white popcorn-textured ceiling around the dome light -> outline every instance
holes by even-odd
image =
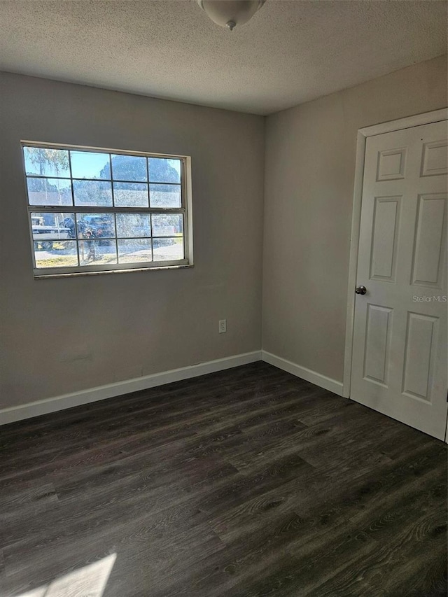
[[[195,0],[0,1],[0,68],[268,114],[447,51],[447,2],[267,0],[230,32]]]

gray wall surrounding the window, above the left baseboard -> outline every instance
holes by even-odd
[[[261,348],[264,118],[8,73],[0,93],[0,408]],[[21,139],[191,155],[195,267],[35,281]]]

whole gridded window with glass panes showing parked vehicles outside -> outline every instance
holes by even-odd
[[[35,276],[192,265],[189,157],[22,148]]]

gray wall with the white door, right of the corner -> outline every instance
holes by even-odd
[[[447,103],[444,56],[267,118],[263,349],[342,381],[357,129]]]

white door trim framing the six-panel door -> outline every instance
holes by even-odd
[[[358,129],[355,181],[353,188],[353,210],[351,216],[349,289],[347,293],[345,327],[344,378],[342,390],[342,395],[344,398],[350,398],[351,357],[353,353],[353,325],[355,315],[354,290],[356,286],[356,270],[358,269],[361,199],[363,197],[365,143],[367,141],[367,137],[393,131],[400,131],[402,129],[409,129],[411,127],[419,127],[420,125],[429,125],[432,122],[440,122],[442,120],[448,120],[448,108],[442,108],[441,110],[426,112],[424,114],[416,114],[414,116],[408,116],[407,118],[400,118],[399,120],[390,120],[389,122],[383,122],[371,127]],[[448,441],[448,430],[447,439],[445,441]]]

